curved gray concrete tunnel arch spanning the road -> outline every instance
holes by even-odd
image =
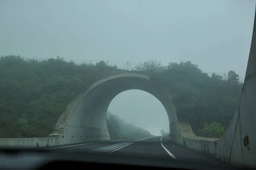
[[[139,89],[154,95],[166,109],[169,124],[177,122],[175,107],[168,92],[154,85],[150,76],[124,73],[96,81],[83,95],[78,95],[58,119],[49,137],[64,135],[63,144],[109,140],[106,124],[108,106],[116,95],[130,89]],[[172,131],[174,132],[173,128]],[[175,131],[178,135],[178,125]]]

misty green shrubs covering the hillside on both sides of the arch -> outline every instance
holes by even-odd
[[[0,58],[0,138],[44,137],[51,133],[67,104],[93,82],[125,70],[64,58],[44,61],[8,55]],[[173,98],[180,121],[196,135],[220,137],[239,101],[242,82],[230,70],[227,79],[207,75],[190,61],[163,66],[156,60],[139,63],[133,72],[151,75]],[[218,70],[216,70],[218,72]]]

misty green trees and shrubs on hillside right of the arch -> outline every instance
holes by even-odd
[[[163,66],[156,60],[139,63],[135,70],[154,77],[172,95],[177,118],[189,122],[198,136],[221,137],[238,108],[243,83],[233,70],[226,78],[209,76],[191,61]]]

